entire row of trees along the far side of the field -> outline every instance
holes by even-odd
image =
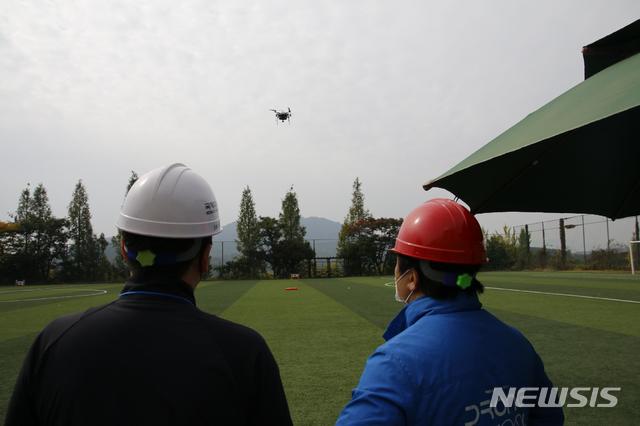
[[[126,193],[138,176],[131,172]],[[52,214],[47,190],[42,183],[32,188],[27,184],[17,208],[10,214],[17,230],[0,232],[0,283],[26,280],[46,282],[122,281],[127,267],[120,256],[109,261],[109,245],[120,247],[120,237],[110,241],[103,233],[96,235],[91,225],[87,189],[79,180],[71,196],[65,217]],[[628,258],[617,247],[594,250],[586,264],[577,265],[567,250],[563,220],[560,219],[560,249],[532,248],[526,228],[519,233],[505,226],[502,232],[484,231],[489,263],[488,270],[626,269]],[[362,183],[352,186],[351,205],[338,236],[335,258],[338,275],[387,275],[393,273],[395,258],[388,253],[393,247],[402,219],[376,218],[365,207]],[[636,233],[638,231],[636,223]],[[282,199],[278,217],[258,216],[251,189],[242,191],[237,221],[236,243],[240,255],[216,268],[224,278],[286,278],[291,274],[307,275],[316,254],[305,240],[297,194],[291,187]],[[636,238],[634,236],[634,238]],[[636,238],[637,239],[637,238]],[[586,255],[585,255],[586,256]],[[326,258],[323,258],[326,259]],[[315,270],[315,263],[314,263]]]

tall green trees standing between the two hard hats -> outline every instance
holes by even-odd
[[[242,192],[236,243],[240,256],[217,268],[227,278],[286,278],[307,275],[316,254],[301,225],[300,207],[293,187],[285,194],[277,218],[258,216],[251,189]],[[351,207],[342,224],[335,259],[341,275],[388,274],[393,270],[393,246],[402,219],[374,218],[364,206],[362,184],[353,183]],[[324,258],[323,258],[324,259]],[[314,267],[315,269],[315,267]]]

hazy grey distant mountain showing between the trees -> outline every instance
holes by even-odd
[[[307,230],[305,238],[315,247],[316,256],[331,257],[336,255],[338,234],[342,226],[340,223],[323,217],[303,217],[301,223]],[[212,263],[214,266],[228,262],[238,255],[235,243],[237,238],[236,222],[224,225],[222,232],[213,237]],[[107,241],[111,241],[111,237],[107,238]],[[113,261],[118,251],[118,248],[109,245],[106,250],[107,258]]]

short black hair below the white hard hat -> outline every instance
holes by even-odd
[[[160,238],[148,237],[145,235],[132,234],[121,231],[120,233],[127,250],[137,252],[149,250],[154,254],[174,254],[178,255],[193,248],[200,240],[200,249],[194,257],[176,263],[164,265],[142,266],[137,260],[125,257],[125,261],[131,271],[131,280],[134,282],[146,282],[162,279],[180,279],[187,272],[194,259],[200,259],[207,245],[211,245],[211,236],[203,238]]]

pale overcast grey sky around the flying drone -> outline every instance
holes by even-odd
[[[304,216],[342,221],[356,176],[374,215],[402,217],[638,17],[637,0],[3,0],[0,220],[27,182],[64,216],[82,179],[112,235],[130,171],[172,162],[210,182],[222,223],[245,185],[277,215],[292,184]]]

